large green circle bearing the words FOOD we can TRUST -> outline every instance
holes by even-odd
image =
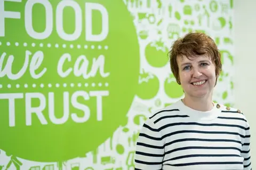
[[[25,29],[26,2],[22,1],[15,7],[13,2],[5,4],[5,9],[19,11],[21,19],[6,19],[5,37],[0,38],[0,51],[7,54],[4,63],[7,56],[14,56],[13,74],[22,68],[26,51],[30,54],[30,62],[33,56],[43,54],[42,64],[35,74],[39,74],[43,68],[47,70],[42,77],[34,79],[30,76],[28,66],[25,75],[17,80],[10,80],[6,76],[1,78],[2,98],[10,98],[13,93],[20,99],[15,99],[15,117],[11,118],[15,120],[15,125],[12,127],[9,124],[9,100],[0,100],[0,136],[4,136],[0,148],[11,155],[42,162],[84,157],[127,122],[126,114],[137,92],[140,66],[139,44],[132,16],[123,1],[115,1],[115,5],[105,0],[72,1],[81,9],[82,34],[73,41],[65,41],[57,34],[55,17],[61,13],[56,12],[56,9],[60,2],[71,1],[42,1],[51,4],[53,29],[49,37],[41,40],[31,38]],[[105,9],[108,14],[108,34],[106,39],[99,42],[86,40],[89,38],[85,33],[90,20],[87,18],[89,22],[86,25],[85,14],[88,11],[85,9],[92,6],[89,2],[96,5],[95,9]],[[67,34],[75,31],[75,11],[72,7],[63,10],[63,29]],[[47,14],[50,14],[49,9]],[[102,18],[101,12],[94,10],[92,16],[92,34],[101,34],[101,22],[106,19],[106,15]],[[33,28],[38,33],[45,30],[45,8],[42,4],[34,5],[32,20]],[[10,46],[5,45],[7,41],[11,43]],[[19,42],[19,45],[15,46],[15,42]],[[27,43],[27,46],[23,46],[23,43]],[[57,66],[65,53],[71,57],[70,61],[65,60],[63,70],[71,68],[73,71],[69,76],[61,77],[57,73]],[[100,55],[104,57],[100,58]],[[81,69],[84,76],[77,76],[79,71],[74,67],[79,58],[89,61],[87,70],[86,62]],[[39,60],[34,61],[39,63]],[[81,67],[82,64],[77,66]],[[89,73],[91,76],[86,77]],[[7,88],[8,84],[11,88]],[[34,111],[29,109],[30,98],[31,107],[39,107]],[[51,113],[54,113],[55,120],[54,116],[50,119]],[[60,118],[66,113],[67,119],[64,117],[62,121]],[[85,115],[89,116],[87,121]]]

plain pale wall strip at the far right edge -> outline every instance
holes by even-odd
[[[256,1],[234,1],[235,107],[241,109],[251,125],[252,165],[256,167]]]

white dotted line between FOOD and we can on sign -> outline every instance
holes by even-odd
[[[3,45],[2,42],[0,42],[0,46]],[[74,44],[51,44],[51,43],[46,43],[46,44],[43,44],[43,43],[18,43],[18,42],[15,42],[15,43],[10,43],[10,42],[6,42],[6,45],[7,46],[11,46],[11,45],[15,45],[15,46],[24,46],[24,47],[27,47],[27,46],[31,46],[31,47],[44,47],[44,46],[47,46],[47,47],[55,47],[55,48],[78,48],[78,49],[81,49],[81,48],[84,48],[84,49],[98,49],[98,50],[101,50],[101,49],[105,49],[105,50],[108,50],[108,46],[107,45],[74,45]]]

